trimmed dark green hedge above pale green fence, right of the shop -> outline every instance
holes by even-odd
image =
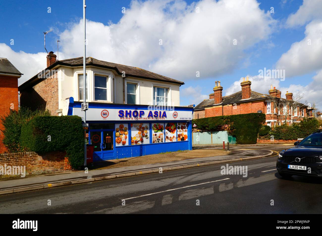
[[[236,136],[237,144],[256,144],[257,134],[265,122],[265,114],[249,113],[231,116],[216,116],[192,120],[202,131],[214,131],[227,126],[229,135]]]

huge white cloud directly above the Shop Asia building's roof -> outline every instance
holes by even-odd
[[[268,39],[274,22],[255,0],[132,1],[118,23],[87,21],[87,55],[179,80],[196,78],[196,71],[200,78],[214,77],[233,70],[245,49]],[[65,57],[82,55],[81,35],[82,20],[60,34]]]

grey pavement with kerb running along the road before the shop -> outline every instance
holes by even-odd
[[[217,149],[217,146],[208,146],[208,148]],[[37,175],[25,178],[4,179],[0,181],[0,195],[15,192],[30,191],[35,189],[52,188],[79,184],[85,182],[93,182],[104,179],[114,179],[127,176],[142,175],[148,173],[162,171],[178,170],[184,168],[192,168],[205,165],[213,165],[218,163],[236,162],[241,160],[250,160],[260,157],[266,157],[273,154],[273,151],[265,148],[256,149],[249,146],[241,148],[240,146],[232,147],[232,154],[214,157],[203,157],[186,159],[174,162],[163,162],[154,164],[145,164],[137,166],[119,167],[113,169],[72,171],[46,175]]]

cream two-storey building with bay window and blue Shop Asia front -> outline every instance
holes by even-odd
[[[21,106],[83,118],[85,89],[94,161],[192,149],[193,107],[180,107],[184,82],[87,57],[84,84],[83,57],[58,61],[50,52],[46,59],[46,69],[19,86]]]

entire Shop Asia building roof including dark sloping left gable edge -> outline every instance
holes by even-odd
[[[66,60],[61,60],[61,61],[56,61],[54,64],[51,66],[47,67],[46,69],[52,69],[55,66],[83,66],[83,57],[76,57],[76,58],[71,58],[71,59],[66,59]],[[117,63],[112,63],[112,62],[107,62],[107,61],[101,61],[98,59],[95,59],[93,57],[86,57],[86,66],[97,66],[97,67],[102,67],[102,68],[107,68],[107,69],[112,69],[117,72],[117,74],[122,75],[123,71],[125,72],[126,76],[130,77],[136,77],[136,78],[142,78],[142,79],[149,79],[149,80],[155,80],[155,81],[162,81],[162,82],[168,82],[168,83],[176,83],[176,84],[185,84],[182,81],[175,80],[160,74],[153,73],[151,71],[147,71],[138,67],[133,67],[133,66],[125,66]],[[45,69],[45,70],[46,70]],[[22,85],[19,86],[19,90],[23,90],[29,85],[33,85],[39,81],[38,79],[38,74],[33,76],[31,79],[23,83]]]

